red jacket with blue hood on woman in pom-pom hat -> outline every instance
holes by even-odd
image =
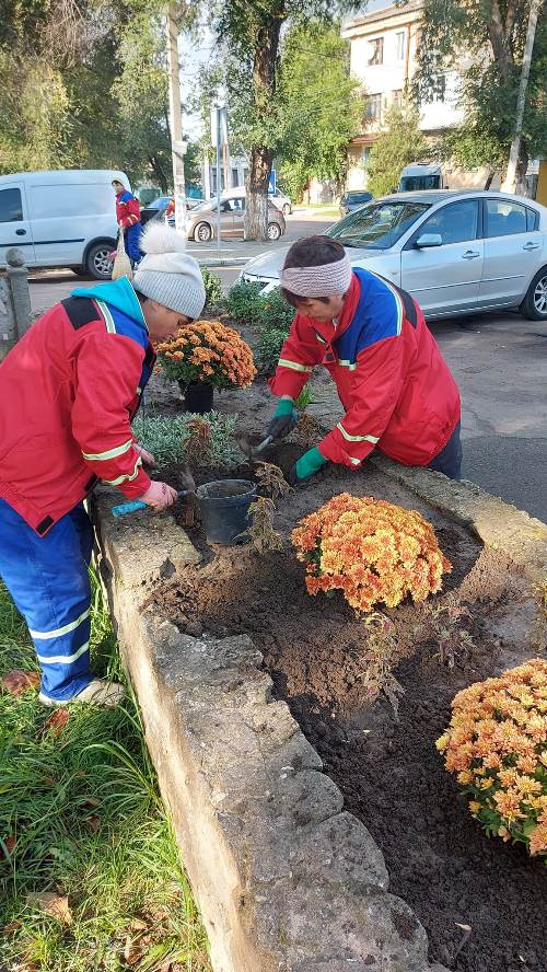
[[[149,488],[131,418],[154,360],[124,277],[73,290],[0,364],[0,496],[40,536],[97,478]]]

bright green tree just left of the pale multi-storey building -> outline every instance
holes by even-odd
[[[277,154],[283,186],[299,197],[312,178],[341,183],[348,142],[361,126],[359,83],[339,24],[296,24],[282,45]]]

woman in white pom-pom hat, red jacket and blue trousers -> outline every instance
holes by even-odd
[[[90,670],[92,531],[82,500],[102,479],[162,510],[177,497],[150,479],[131,419],[152,342],[198,317],[205,289],[185,240],[155,224],[135,275],[75,288],[0,364],[0,577],[42,667],[40,702],[115,705],[120,685]]]

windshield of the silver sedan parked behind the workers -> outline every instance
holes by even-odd
[[[388,250],[431,206],[430,202],[384,200],[350,212],[326,231],[344,246]]]

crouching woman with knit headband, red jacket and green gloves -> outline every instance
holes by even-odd
[[[291,430],[315,364],[329,371],[346,413],[294,464],[293,484],[329,461],[357,470],[373,449],[458,479],[459,394],[416,301],[370,270],[352,270],[328,236],[291,246],[281,288],[296,316],[270,381],[280,401],[268,433]]]

